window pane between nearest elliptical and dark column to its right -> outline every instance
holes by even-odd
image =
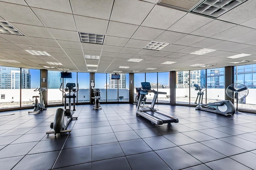
[[[78,103],[79,102],[90,102],[90,73],[78,72]]]

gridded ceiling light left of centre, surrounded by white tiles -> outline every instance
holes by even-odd
[[[82,43],[103,44],[105,35],[79,32]]]

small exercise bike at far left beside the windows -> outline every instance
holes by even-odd
[[[36,98],[35,103],[34,103],[34,110],[29,111],[28,113],[40,113],[40,111],[46,110],[42,92],[47,91],[47,88],[46,87],[36,88],[36,90],[34,90],[34,92],[37,92],[37,91],[39,92],[39,96],[32,96],[32,98]],[[40,103],[38,103],[37,98],[40,98]]]

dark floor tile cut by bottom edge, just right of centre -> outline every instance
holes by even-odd
[[[132,170],[171,170],[155,152],[135,154],[126,158]]]

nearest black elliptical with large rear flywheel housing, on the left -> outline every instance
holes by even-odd
[[[62,91],[61,87],[62,87],[62,83],[60,85],[60,91]],[[71,130],[66,130],[66,128],[70,120],[77,119],[77,117],[73,117],[73,114],[74,114],[74,111],[76,111],[75,93],[77,93],[79,90],[78,84],[77,84],[77,90],[74,87],[76,87],[76,83],[67,83],[66,88],[64,89],[64,91],[62,91],[64,92],[63,98],[64,98],[65,109],[58,108],[56,110],[54,121],[50,124],[50,127],[54,129],[54,131],[46,132],[47,135],[49,135],[50,133],[54,133],[54,135],[56,135],[57,133],[60,133],[61,135],[63,132],[69,132],[69,133],[71,132]],[[68,95],[66,94],[66,92],[68,92]],[[71,92],[74,92],[73,95],[71,95]],[[66,108],[67,98],[68,98],[68,109]],[[71,109],[71,99],[73,99],[73,109]]]

